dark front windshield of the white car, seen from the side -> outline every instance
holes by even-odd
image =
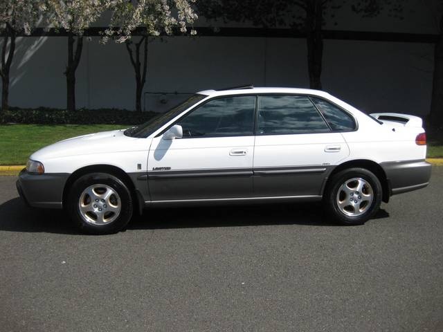
[[[197,102],[203,100],[206,97],[207,95],[192,95],[191,98],[182,102],[181,104],[178,104],[176,107],[173,107],[166,113],[159,114],[151,120],[136,127],[126,129],[124,133],[126,136],[129,137],[146,138],[147,136],[150,136],[152,133],[154,133],[154,131],[159,129],[159,127],[161,127],[163,124],[169,122],[170,120],[178,116],[181,112],[189,109],[190,107],[192,107],[192,105],[197,104]]]

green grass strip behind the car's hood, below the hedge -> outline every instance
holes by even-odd
[[[25,165],[30,154],[59,140],[114,129],[118,124],[7,124],[0,125],[0,165]]]

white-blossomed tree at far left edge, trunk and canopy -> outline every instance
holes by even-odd
[[[1,109],[8,109],[10,68],[15,53],[17,35],[30,35],[41,17],[43,3],[39,0],[0,0],[0,76]]]

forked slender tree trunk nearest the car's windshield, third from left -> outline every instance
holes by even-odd
[[[126,49],[129,54],[129,59],[134,67],[134,72],[136,74],[136,111],[141,112],[141,97],[143,94],[143,87],[146,82],[146,71],[147,71],[147,36],[141,37],[141,39],[135,44],[136,54],[134,58],[134,53],[132,50],[132,42],[126,43]],[[143,44],[143,66],[141,64],[140,48]]]

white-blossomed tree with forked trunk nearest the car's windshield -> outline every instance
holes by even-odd
[[[197,15],[192,9],[196,0],[111,0],[111,24],[102,42],[114,38],[125,43],[136,76],[136,111],[141,111],[141,96],[146,82],[147,44],[150,36],[181,33],[195,35],[192,26]],[[134,37],[134,34],[139,37]],[[141,50],[143,53],[141,54]]]

